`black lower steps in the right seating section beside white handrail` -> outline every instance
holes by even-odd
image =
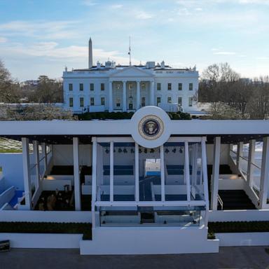
[[[243,190],[219,190],[219,196],[223,201],[223,210],[256,209]],[[221,210],[220,205],[218,210]]]

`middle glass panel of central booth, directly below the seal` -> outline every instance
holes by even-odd
[[[139,146],[139,199],[160,201],[160,148]]]

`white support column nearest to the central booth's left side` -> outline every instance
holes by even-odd
[[[75,189],[75,209],[81,210],[81,173],[79,170],[79,149],[78,137],[73,137],[73,159],[74,159],[74,189]]]

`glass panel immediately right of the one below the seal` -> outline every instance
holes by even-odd
[[[165,200],[186,201],[187,188],[184,180],[184,143],[165,143]]]

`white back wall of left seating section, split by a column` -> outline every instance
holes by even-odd
[[[79,145],[79,164],[92,165],[91,145]],[[53,145],[53,165],[73,165],[73,145]]]

